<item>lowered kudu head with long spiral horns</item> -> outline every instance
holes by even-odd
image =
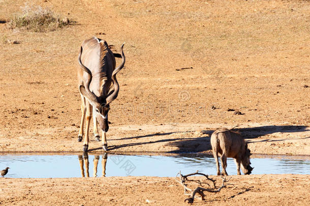
[[[125,44],[125,43],[124,43]],[[116,79],[116,74],[119,72],[123,66],[125,65],[125,54],[123,52],[123,46],[121,46],[121,57],[122,57],[122,62],[121,64],[112,72],[112,82],[114,85],[114,88],[112,89],[111,92],[108,93],[107,96],[101,96],[97,97],[92,91],[89,90],[89,84],[92,79],[92,74],[90,70],[85,67],[82,62],[81,62],[81,55],[83,48],[81,47],[80,53],[79,53],[79,64],[81,68],[88,73],[88,78],[85,81],[85,86],[80,85],[80,93],[89,101],[89,103],[92,105],[92,107],[95,108],[96,114],[93,114],[93,116],[96,116],[97,122],[100,125],[100,128],[102,131],[107,132],[109,130],[109,122],[108,122],[108,112],[110,110],[110,103],[116,99],[118,92],[119,92],[119,84]]]

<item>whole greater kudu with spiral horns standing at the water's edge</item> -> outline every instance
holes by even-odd
[[[125,43],[124,43],[125,44]],[[109,130],[108,112],[110,103],[116,99],[119,85],[116,74],[125,65],[125,55],[121,46],[121,64],[115,69],[115,57],[106,41],[92,37],[83,41],[78,62],[78,85],[82,98],[81,110],[82,119],[78,141],[82,141],[83,125],[86,113],[86,132],[84,138],[83,151],[88,150],[88,130],[89,121],[94,120],[94,136],[100,141],[97,122],[102,129],[102,148],[108,150],[106,132]],[[111,85],[113,83],[113,86]]]

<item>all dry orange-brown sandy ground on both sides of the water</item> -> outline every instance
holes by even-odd
[[[238,126],[253,153],[310,155],[308,1],[29,3],[75,22],[48,33],[8,30],[6,21],[24,1],[0,1],[0,151],[82,150],[77,54],[84,39],[97,36],[114,45],[114,52],[127,42],[126,68],[117,75],[120,92],[109,113],[111,152],[207,152],[214,129]],[[100,153],[101,144],[91,138],[89,149]],[[306,205],[308,179],[234,177],[237,188],[208,198],[224,199],[254,186],[216,203]],[[181,204],[182,189],[170,185],[171,179],[146,177],[2,179],[0,200]]]

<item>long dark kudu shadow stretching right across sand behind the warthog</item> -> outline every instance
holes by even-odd
[[[244,139],[255,139],[260,136],[265,136],[268,134],[273,134],[277,132],[281,133],[294,133],[294,132],[306,132],[310,131],[307,129],[307,126],[261,126],[261,127],[253,127],[253,128],[235,128],[234,131],[238,131]],[[114,140],[123,140],[126,142],[126,140],[131,139],[140,139],[140,138],[146,138],[146,137],[154,137],[154,136],[165,136],[175,133],[189,133],[193,131],[177,131],[177,132],[166,132],[166,133],[153,133],[153,134],[146,134],[146,135],[140,135],[140,136],[131,136],[131,137],[124,137],[124,138],[118,138],[118,139],[112,139],[110,141]],[[156,144],[160,142],[166,142],[165,146],[173,146],[177,149],[170,151],[169,153],[189,153],[189,152],[204,152],[211,150],[211,144],[210,144],[210,137],[211,134],[214,132],[214,130],[202,130],[202,134],[204,134],[201,137],[191,137],[191,138],[167,138],[167,139],[159,139],[159,140],[152,140],[152,141],[146,141],[146,142],[131,142],[131,143],[123,143],[118,145],[111,145],[108,146],[108,150],[117,150],[120,148],[126,148],[128,146],[137,146],[137,145],[144,145],[144,144]],[[310,138],[310,137],[303,137]],[[287,138],[286,138],[287,139]],[[251,141],[251,142],[260,142],[260,141],[283,141],[286,139],[263,139],[263,140],[257,140],[257,141]],[[302,139],[298,137],[292,137],[290,139]],[[91,149],[89,151],[94,150],[100,150],[102,148],[96,148]]]

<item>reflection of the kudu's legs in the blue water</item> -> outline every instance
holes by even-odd
[[[82,177],[85,178],[85,170],[86,170],[86,178],[89,178],[89,161],[88,161],[88,153],[84,153],[83,155],[79,155],[79,162],[81,168]],[[92,174],[95,178],[97,177],[97,167],[99,162],[100,156],[95,155],[94,158],[94,173]],[[102,176],[106,176],[106,165],[107,165],[108,154],[105,153],[102,155],[101,164],[102,164]],[[84,170],[85,164],[85,170]]]

